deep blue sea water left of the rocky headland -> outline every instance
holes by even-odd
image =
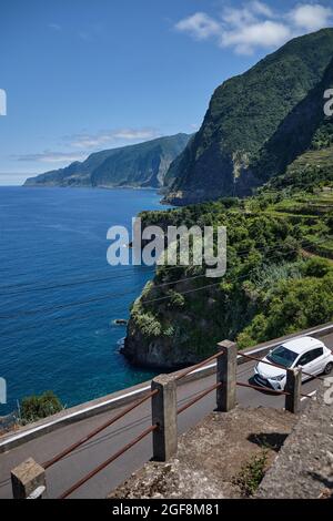
[[[49,389],[70,407],[152,376],[119,354],[112,321],[153,269],[111,267],[107,231],[157,208],[149,190],[0,187],[0,416]]]

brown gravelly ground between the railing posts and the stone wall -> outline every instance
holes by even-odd
[[[269,468],[295,421],[289,412],[268,408],[213,412],[179,438],[175,458],[148,462],[109,497],[240,498],[243,492],[234,479],[242,467],[266,450]]]

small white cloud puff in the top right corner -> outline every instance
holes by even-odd
[[[300,29],[316,31],[332,22],[333,10],[319,3],[299,4],[290,12],[290,19]]]

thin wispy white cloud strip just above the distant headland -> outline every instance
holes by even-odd
[[[160,136],[155,129],[117,129],[97,134],[75,134],[65,137],[77,149],[100,149],[119,143],[147,141]]]

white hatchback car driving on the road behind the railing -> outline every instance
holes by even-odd
[[[270,361],[282,367],[273,367]],[[329,375],[333,369],[333,354],[321,340],[312,337],[297,337],[272,349],[263,361],[254,368],[255,384],[275,390],[284,390],[286,369],[302,367],[310,375]],[[311,376],[302,375],[302,381]]]

